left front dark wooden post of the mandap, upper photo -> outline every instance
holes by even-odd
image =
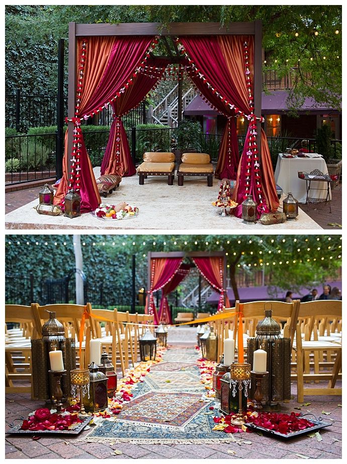
[[[76,23],[69,23],[69,77],[68,77],[68,99],[67,99],[67,115],[68,118],[74,118],[75,114],[75,99],[76,99]],[[67,138],[67,153],[68,153],[68,172],[67,183],[70,179],[71,161],[70,154],[72,153],[73,144],[73,123],[68,123],[68,138]]]

